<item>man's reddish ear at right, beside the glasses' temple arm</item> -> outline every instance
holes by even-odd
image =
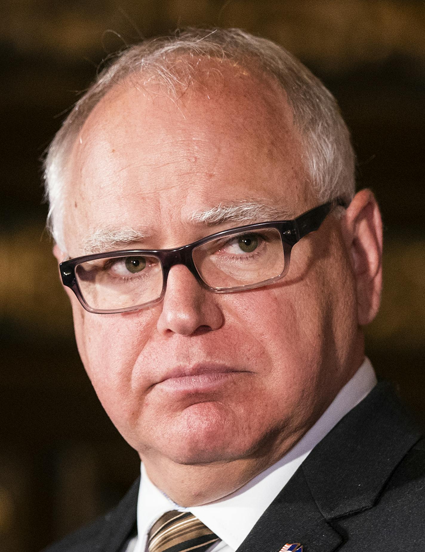
[[[358,322],[365,326],[378,312],[382,289],[382,220],[370,190],[354,196],[342,219],[342,232],[356,283]]]

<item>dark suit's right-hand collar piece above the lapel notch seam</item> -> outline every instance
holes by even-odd
[[[388,383],[379,383],[301,465],[327,519],[374,506],[421,431]]]

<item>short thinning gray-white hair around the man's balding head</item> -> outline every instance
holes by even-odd
[[[182,56],[178,63],[176,57]],[[120,52],[99,73],[78,100],[52,141],[45,158],[45,190],[49,201],[47,227],[62,251],[66,160],[78,133],[95,105],[117,83],[139,72],[176,94],[189,86],[201,57],[257,66],[277,79],[293,108],[300,130],[304,162],[321,201],[354,195],[354,152],[336,100],[320,80],[283,47],[238,29],[188,29],[173,36],[142,41]]]

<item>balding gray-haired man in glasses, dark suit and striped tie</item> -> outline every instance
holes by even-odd
[[[54,252],[142,476],[51,550],[423,548],[423,442],[364,357],[382,237],[353,158],[331,94],[242,31],[136,45],[78,102]]]

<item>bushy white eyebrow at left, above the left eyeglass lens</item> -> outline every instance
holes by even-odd
[[[133,229],[124,226],[121,229],[98,228],[91,235],[82,240],[83,251],[89,253],[102,253],[103,251],[116,250],[131,243],[147,240],[152,232],[145,227]]]

